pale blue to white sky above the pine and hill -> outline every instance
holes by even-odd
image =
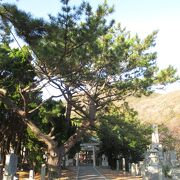
[[[48,17],[57,14],[59,0],[2,0],[15,3],[20,9],[31,12],[34,16]],[[81,0],[71,0],[79,4]],[[95,8],[103,0],[89,0]],[[155,51],[160,68],[169,64],[178,69],[180,76],[180,0],[107,0],[115,6],[112,18],[123,27],[145,37],[153,30],[159,30]]]

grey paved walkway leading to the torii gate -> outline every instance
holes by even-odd
[[[107,180],[96,168],[92,166],[79,166],[77,180]]]

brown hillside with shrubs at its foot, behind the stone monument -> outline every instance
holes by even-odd
[[[167,127],[168,129],[165,128],[160,133],[163,141],[180,152],[180,91],[129,98],[128,102],[130,107],[138,112],[141,121],[163,124],[163,127]]]

